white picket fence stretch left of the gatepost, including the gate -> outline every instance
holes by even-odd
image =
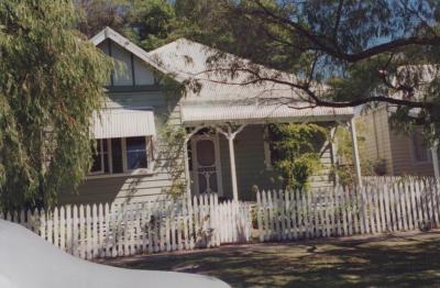
[[[248,242],[251,207],[217,195],[129,204],[66,206],[0,213],[80,258],[213,247]]]

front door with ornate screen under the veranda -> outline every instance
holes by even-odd
[[[221,196],[223,191],[218,135],[195,135],[191,141],[191,151],[196,193]]]

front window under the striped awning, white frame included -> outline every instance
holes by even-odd
[[[90,176],[152,171],[152,136],[97,140]]]

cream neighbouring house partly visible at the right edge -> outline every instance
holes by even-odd
[[[439,177],[438,148],[426,145],[424,131],[417,129],[413,134],[393,130],[389,115],[395,109],[382,104],[358,118],[363,123],[365,158],[376,164],[377,173],[387,176],[436,176]]]

